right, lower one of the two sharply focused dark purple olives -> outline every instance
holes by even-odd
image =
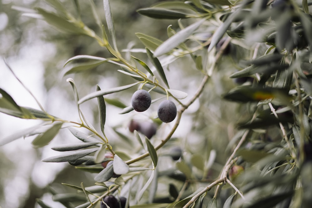
[[[177,107],[171,100],[164,100],[159,104],[157,114],[162,122],[169,123],[177,116]]]

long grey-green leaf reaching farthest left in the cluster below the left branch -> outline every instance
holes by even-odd
[[[92,152],[97,151],[99,148],[92,148],[92,149],[84,149],[84,150],[78,150],[74,152],[68,152],[62,155],[58,156],[53,156],[53,157],[48,157],[44,160],[43,162],[68,162],[68,161],[73,161],[76,159],[79,159],[83,156],[89,155]]]

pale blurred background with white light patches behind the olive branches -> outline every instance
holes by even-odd
[[[66,8],[74,13],[73,2],[63,2]],[[90,28],[95,29],[96,24],[91,14],[89,1],[79,2],[82,20]],[[172,25],[173,29],[178,29],[176,20],[155,20],[140,16],[135,12],[138,8],[148,7],[156,2],[158,1],[110,1],[120,49],[127,48],[129,44],[133,44],[134,48],[144,48],[135,32],[166,40],[168,25]],[[100,0],[95,0],[98,12],[104,21],[102,3]],[[38,6],[51,9],[43,0],[0,0],[0,55],[6,58],[17,77],[32,91],[47,112],[62,119],[72,121],[79,119],[71,86],[66,82],[69,77],[75,80],[81,97],[95,91],[97,84],[102,89],[108,89],[133,82],[128,76],[119,73],[117,66],[110,64],[103,64],[87,72],[62,77],[63,65],[72,56],[110,57],[110,54],[90,37],[64,34],[44,21],[22,15],[22,10],[27,12],[28,9]],[[98,30],[95,29],[95,31],[99,33]],[[207,31],[208,35],[209,31]],[[135,55],[147,61],[145,54]],[[2,58],[0,60],[0,87],[6,90],[17,104],[39,109],[32,96],[7,69]],[[234,123],[241,119],[242,115],[239,112],[243,111],[236,104],[221,98],[222,93],[235,85],[228,78],[228,75],[235,70],[232,62],[231,58],[222,58],[218,72],[206,86],[201,99],[186,111],[179,128],[173,135],[176,138],[174,140],[176,145],[183,148],[186,158],[194,154],[203,155],[207,151],[207,146],[214,149],[217,155],[214,166],[216,174],[222,169],[221,164],[227,157],[224,150],[229,139],[235,134]],[[165,73],[172,89],[179,89],[189,94],[188,98],[182,100],[183,102],[194,94],[202,77],[191,57],[187,56],[169,65]],[[132,88],[108,95],[108,98],[117,98],[129,105],[131,95],[135,90]],[[160,95],[152,93],[153,99],[157,97]],[[96,99],[86,102],[81,108],[90,123],[96,129],[100,129]],[[156,115],[157,104],[152,104],[147,112],[140,115],[135,112],[119,115],[121,109],[111,105],[107,105],[107,108],[106,134],[110,138],[111,145],[122,151],[127,148],[127,144],[113,128],[118,128],[119,132],[129,138],[134,138],[127,129],[130,119],[150,120]],[[38,121],[22,120],[1,113],[0,139],[36,123]],[[172,124],[162,125],[155,136],[155,139],[159,141],[170,130]],[[50,192],[60,193],[64,191],[61,182],[79,185],[83,181],[85,186],[92,186],[95,181],[94,175],[90,173],[77,171],[67,163],[41,162],[43,158],[58,154],[51,150],[51,147],[77,142],[76,140],[69,131],[61,130],[59,135],[44,148],[33,148],[32,137],[21,138],[0,147],[0,206],[2,208],[39,207],[35,199],[41,198],[52,207],[62,207],[60,203],[51,199],[47,185],[51,185]]]

